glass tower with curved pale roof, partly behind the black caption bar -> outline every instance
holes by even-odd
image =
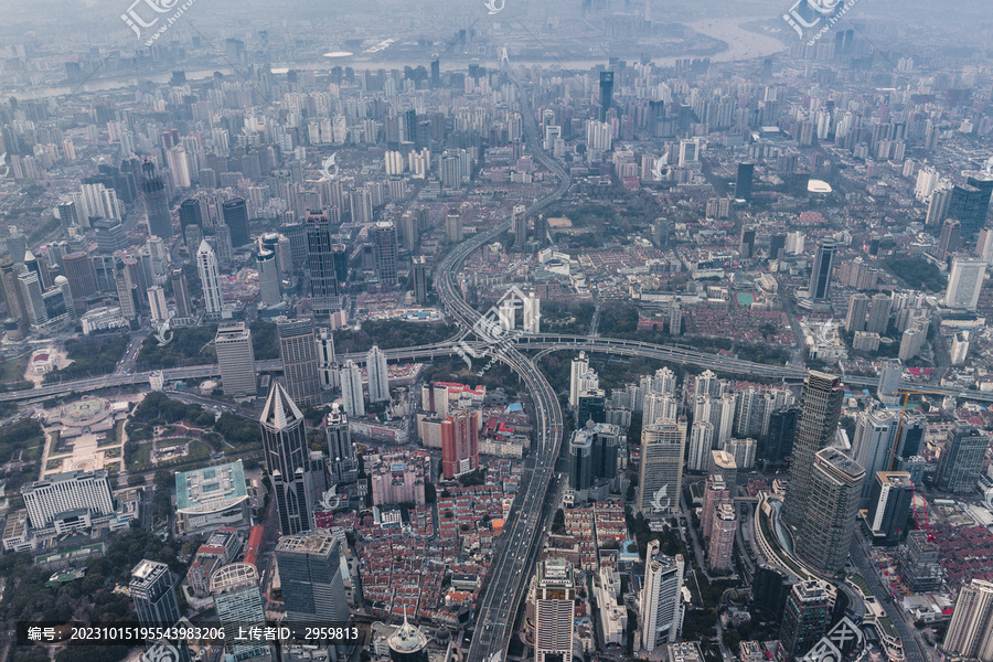
[[[266,612],[258,588],[258,570],[250,563],[232,563],[223,566],[211,575],[210,589],[217,620],[222,626],[233,628],[236,632],[238,627],[266,624]],[[274,659],[271,648],[260,642],[228,642],[227,650],[237,661],[266,662]]]

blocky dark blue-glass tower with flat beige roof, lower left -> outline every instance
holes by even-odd
[[[349,601],[341,577],[341,543],[324,530],[284,535],[276,544],[286,619],[290,622],[343,623]]]

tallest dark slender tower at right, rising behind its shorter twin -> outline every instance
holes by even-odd
[[[810,371],[800,396],[800,419],[793,436],[793,461],[783,515],[787,523],[800,526],[807,515],[814,456],[828,446],[837,430],[844,388],[834,375]]]

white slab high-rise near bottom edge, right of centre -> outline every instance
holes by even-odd
[[[683,627],[683,555],[659,548],[659,541],[649,542],[641,588],[641,648],[648,652],[675,641]]]

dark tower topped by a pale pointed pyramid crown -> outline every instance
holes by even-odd
[[[276,382],[259,418],[266,469],[273,477],[279,533],[292,535],[313,528],[311,490],[303,414]],[[287,609],[289,607],[287,606]]]

